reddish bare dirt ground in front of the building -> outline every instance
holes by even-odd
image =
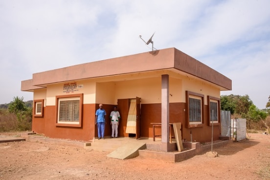
[[[270,180],[270,135],[177,162],[119,160],[107,152],[33,141],[0,143],[0,180]]]

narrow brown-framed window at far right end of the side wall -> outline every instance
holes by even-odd
[[[220,99],[212,96],[207,96],[208,102],[208,125],[220,122]]]

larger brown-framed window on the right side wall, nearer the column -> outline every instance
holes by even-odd
[[[203,105],[204,95],[186,91],[186,103],[187,103],[187,127],[202,127],[203,126]]]

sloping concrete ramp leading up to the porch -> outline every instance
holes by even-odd
[[[109,158],[130,159],[139,156],[139,151],[146,149],[146,144],[142,142],[129,142],[120,146],[115,151],[107,155]]]

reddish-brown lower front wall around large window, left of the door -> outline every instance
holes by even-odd
[[[110,113],[113,110],[113,105],[103,104],[106,110],[106,128],[105,136],[112,135],[110,125]],[[73,140],[92,140],[97,137],[97,125],[95,125],[95,112],[98,109],[98,104],[83,105],[83,120],[82,127],[63,127],[56,126],[56,107],[47,106],[45,111],[46,118],[35,118],[33,121],[33,131],[45,134],[52,138],[68,138]]]

